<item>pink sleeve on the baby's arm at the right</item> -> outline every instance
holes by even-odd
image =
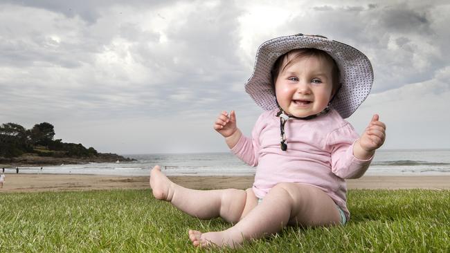
[[[353,156],[353,145],[358,138],[359,135],[350,124],[328,135],[327,148],[331,151],[332,172],[336,176],[361,178],[369,168],[373,156],[368,160],[360,160]]]

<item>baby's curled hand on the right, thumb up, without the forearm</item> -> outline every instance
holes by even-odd
[[[374,151],[381,147],[386,139],[386,125],[379,121],[379,115],[372,116],[366,131],[359,138],[359,145],[367,152]]]

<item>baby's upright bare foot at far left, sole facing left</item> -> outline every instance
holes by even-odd
[[[156,199],[165,201],[172,200],[174,183],[161,172],[161,168],[158,165],[150,171],[150,187]]]

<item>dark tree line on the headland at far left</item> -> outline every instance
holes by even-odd
[[[0,125],[0,158],[17,158],[26,154],[49,158],[102,158],[102,160],[132,160],[116,154],[98,153],[93,147],[86,148],[81,143],[66,143],[53,140],[55,129],[52,124],[42,122],[32,129],[20,124]],[[1,160],[1,159],[0,159]],[[115,160],[114,160],[115,161]]]

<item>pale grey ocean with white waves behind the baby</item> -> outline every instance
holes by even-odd
[[[117,176],[148,176],[150,169],[160,165],[168,176],[251,176],[249,167],[232,153],[173,153],[123,155],[135,162],[89,163],[87,165],[59,165],[19,167],[19,173],[96,174]],[[6,169],[14,173],[15,169]],[[365,175],[422,176],[450,175],[450,149],[378,150]]]

